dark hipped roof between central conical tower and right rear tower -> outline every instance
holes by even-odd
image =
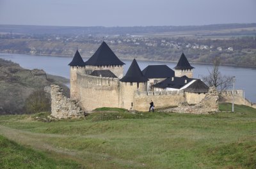
[[[142,73],[146,78],[174,77],[174,71],[166,65],[149,65]]]

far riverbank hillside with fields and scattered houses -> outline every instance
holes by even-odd
[[[185,52],[191,62],[212,64],[212,59],[219,56],[221,64],[256,66],[256,62],[253,62],[256,52],[255,36],[252,36],[254,31],[233,33],[227,30],[219,34],[215,31],[188,32],[191,34],[178,31],[173,35],[173,32],[161,32],[160,28],[160,32],[150,29],[147,33],[147,30],[143,32],[139,28],[135,32],[126,29],[116,32],[118,28],[112,29],[109,33],[101,33],[93,28],[87,31],[67,31],[65,28],[49,33],[29,33],[26,30],[26,33],[16,33],[13,29],[13,32],[0,33],[0,52],[70,57],[78,48],[83,57],[88,58],[104,40],[122,59],[136,57],[147,61],[177,62],[180,54]]]

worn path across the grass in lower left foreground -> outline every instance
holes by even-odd
[[[27,145],[29,147],[38,149],[40,151],[50,152],[50,154],[53,154],[56,157],[60,156],[61,158],[72,159],[84,166],[88,166],[85,160],[88,157],[96,158],[96,160],[99,161],[99,163],[108,163],[107,161],[111,160],[111,161],[118,161],[118,163],[130,164],[135,167],[141,166],[141,163],[138,163],[136,161],[124,160],[124,159],[109,156],[108,154],[100,154],[100,153],[88,152],[88,151],[69,150],[66,148],[56,147],[46,141],[49,138],[54,139],[54,138],[72,137],[70,135],[67,136],[67,135],[57,135],[57,134],[32,133],[29,131],[22,131],[20,129],[8,128],[2,125],[0,125],[0,135],[3,135],[9,140],[13,140],[14,142],[20,143],[22,145]],[[84,137],[84,139],[86,139],[85,136],[81,136],[81,137]],[[120,168],[118,166],[109,166],[109,167]]]

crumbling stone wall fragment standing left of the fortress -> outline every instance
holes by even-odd
[[[75,99],[64,96],[58,85],[51,85],[51,116],[57,119],[74,119],[84,117],[84,112]]]

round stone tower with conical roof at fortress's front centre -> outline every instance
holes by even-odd
[[[147,81],[148,79],[143,76],[136,59],[133,59],[126,75],[120,79],[122,108],[134,109],[136,106],[134,94],[136,91],[147,91]]]

